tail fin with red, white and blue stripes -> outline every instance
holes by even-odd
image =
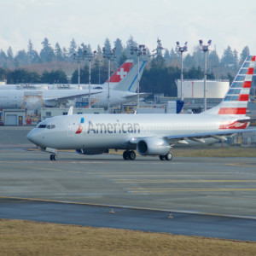
[[[247,56],[239,72],[236,75],[230,89],[218,106],[211,108],[203,113],[219,115],[233,115],[238,118],[245,117],[247,113],[247,102],[249,100],[253,71],[256,56]]]

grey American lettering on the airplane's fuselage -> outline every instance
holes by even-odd
[[[140,133],[140,125],[137,123],[97,123],[89,121],[87,133]]]

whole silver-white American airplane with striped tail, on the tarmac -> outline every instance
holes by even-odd
[[[256,56],[248,56],[223,101],[199,114],[74,114],[39,123],[27,138],[56,160],[57,149],[76,149],[79,154],[102,154],[125,149],[124,160],[138,154],[172,160],[177,143],[205,143],[206,138],[225,140],[247,129],[246,116]]]

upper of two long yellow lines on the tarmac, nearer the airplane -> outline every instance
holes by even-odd
[[[125,180],[125,179],[113,179],[115,183],[256,183],[256,180],[206,180],[206,179],[196,179],[196,180],[188,180],[188,179],[170,179],[170,180]]]

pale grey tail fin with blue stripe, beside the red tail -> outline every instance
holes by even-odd
[[[140,78],[143,75],[144,67],[147,61],[139,62]],[[136,92],[137,90],[137,64],[132,67],[130,73],[128,73],[125,79],[122,79],[118,84],[113,86],[113,90],[125,90]]]

